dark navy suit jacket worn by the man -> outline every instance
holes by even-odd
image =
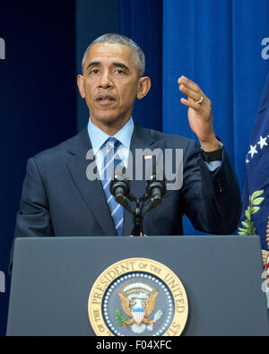
[[[183,186],[168,191],[161,205],[146,215],[145,234],[182,235],[184,213],[204,232],[230,234],[237,229],[239,186],[224,150],[221,168],[212,173],[194,141],[134,125],[131,151],[138,148],[178,148],[184,156]],[[15,237],[117,236],[101,182],[86,177],[89,149],[85,129],[28,161]],[[131,181],[130,186],[136,197],[145,192],[143,181]],[[124,235],[132,229],[133,217],[125,212]]]

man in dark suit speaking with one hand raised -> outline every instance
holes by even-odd
[[[161,205],[147,214],[145,234],[182,234],[183,214],[195,229],[204,232],[230,234],[237,229],[239,186],[223,144],[215,137],[211,102],[186,77],[180,77],[178,84],[187,95],[181,103],[188,108],[189,124],[200,148],[190,139],[134,124],[134,100],[143,99],[151,87],[150,78],[144,76],[143,52],[123,36],[108,34],[96,39],[88,47],[82,75],[78,75],[78,87],[90,111],[89,125],[72,139],[28,161],[15,237],[131,234],[133,218],[106,190],[109,180],[90,180],[86,173],[91,149],[99,174],[103,173],[104,165],[96,153],[108,153],[111,137],[113,149],[120,145],[133,155],[136,149],[145,148],[183,150],[183,186],[168,191]],[[126,156],[122,158],[126,160]],[[132,194],[139,197],[146,185],[133,180],[130,186]]]

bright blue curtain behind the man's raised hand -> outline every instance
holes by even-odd
[[[268,14],[268,0],[163,0],[163,131],[194,137],[179,102],[177,79],[184,74],[212,100],[215,132],[241,189],[269,72],[268,48],[262,45],[269,37]],[[185,232],[195,233],[188,222]]]

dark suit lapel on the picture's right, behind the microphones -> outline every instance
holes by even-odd
[[[152,148],[156,139],[149,134],[149,130],[134,124],[134,133],[132,135],[130,151],[133,154],[133,179],[130,180],[130,193],[134,194],[135,198],[140,198],[145,193],[146,181],[135,181],[135,150]],[[153,148],[152,148],[153,149]],[[135,203],[131,203],[132,209],[135,208]],[[125,236],[130,236],[134,228],[134,216],[124,211],[124,232]]]

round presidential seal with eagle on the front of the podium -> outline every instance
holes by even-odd
[[[187,294],[166,265],[129,258],[110,265],[94,282],[88,313],[100,336],[176,336],[187,323]]]

